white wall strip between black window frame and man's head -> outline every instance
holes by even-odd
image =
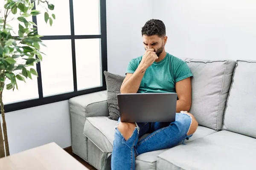
[[[108,71],[125,75],[128,62],[143,55],[141,28],[152,18],[151,0],[107,0]]]

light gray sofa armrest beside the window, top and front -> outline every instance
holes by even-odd
[[[108,116],[107,91],[76,96],[69,99],[72,151],[88,161],[87,137],[84,136],[86,117]]]

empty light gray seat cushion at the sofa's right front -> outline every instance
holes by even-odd
[[[157,170],[246,170],[255,158],[256,139],[223,130],[161,153]]]

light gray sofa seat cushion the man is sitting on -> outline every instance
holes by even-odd
[[[84,135],[88,137],[102,152],[112,152],[114,131],[117,121],[108,119],[107,116],[88,117],[84,125]],[[202,138],[209,134],[215,133],[207,127],[198,126],[194,135],[185,142]],[[146,135],[142,136],[143,139]],[[167,149],[168,150],[168,149]],[[156,169],[157,156],[165,150],[156,150],[153,152],[143,153],[136,157],[136,169]]]

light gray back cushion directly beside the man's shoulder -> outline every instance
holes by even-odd
[[[199,125],[221,130],[227,96],[236,62],[233,60],[185,60],[192,71],[190,113]]]

